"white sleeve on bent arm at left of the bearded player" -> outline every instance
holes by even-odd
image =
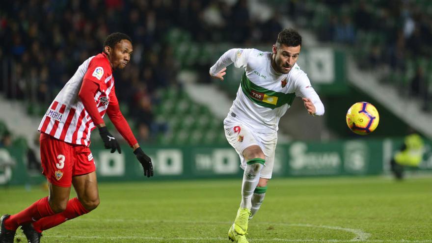
[[[240,49],[233,48],[226,51],[222,56],[219,57],[215,65],[210,68],[210,75],[215,76],[220,70],[229,66],[234,62],[237,68],[246,68],[247,56],[253,49]]]

